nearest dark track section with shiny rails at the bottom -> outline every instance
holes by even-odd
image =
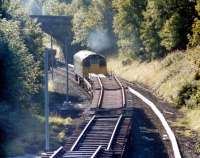
[[[93,116],[69,150],[60,147],[42,158],[121,158],[126,154],[132,126],[128,116]]]

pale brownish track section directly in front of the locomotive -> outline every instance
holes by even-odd
[[[126,91],[116,76],[101,78],[93,81],[92,108],[115,109],[126,107]]]

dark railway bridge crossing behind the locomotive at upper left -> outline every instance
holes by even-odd
[[[72,17],[71,16],[50,16],[50,15],[31,15],[30,18],[36,20],[41,29],[55,39],[65,59],[68,57],[68,62],[72,61],[73,54],[80,47],[72,45]]]

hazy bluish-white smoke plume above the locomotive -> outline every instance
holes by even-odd
[[[108,31],[103,29],[94,30],[89,34],[87,46],[93,51],[101,52],[112,47],[112,40]]]

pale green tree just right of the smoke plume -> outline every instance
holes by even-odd
[[[114,0],[113,29],[118,38],[118,48],[123,54],[143,58],[143,44],[140,39],[142,12],[146,0]]]

